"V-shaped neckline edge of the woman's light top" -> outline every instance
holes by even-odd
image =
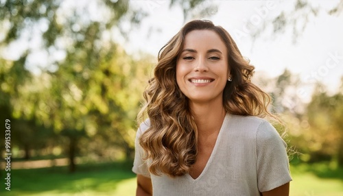
[[[202,176],[204,176],[206,174],[206,171],[209,169],[209,167],[211,167],[211,162],[213,161],[215,154],[217,154],[217,148],[218,148],[218,145],[219,145],[220,140],[222,138],[222,133],[224,132],[224,127],[226,127],[226,123],[228,122],[228,118],[229,118],[229,114],[226,113],[225,117],[224,117],[224,121],[222,123],[222,127],[220,127],[220,131],[218,133],[217,139],[215,140],[215,146],[213,147],[213,150],[211,152],[211,156],[210,156],[209,160],[207,160],[206,165],[205,165],[204,169],[202,170],[202,172],[200,173],[200,175],[194,179],[193,177],[191,177],[191,175],[189,173],[186,174],[187,178],[189,180],[191,180],[191,182],[199,181],[202,178]]]

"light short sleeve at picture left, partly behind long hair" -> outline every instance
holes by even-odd
[[[150,126],[150,121],[147,120],[141,123],[137,130],[136,140],[134,141],[134,162],[132,171],[136,174],[144,175],[145,177],[150,177],[150,172],[147,166],[147,160],[143,160],[145,155],[143,148],[139,145],[139,138],[145,130]]]

